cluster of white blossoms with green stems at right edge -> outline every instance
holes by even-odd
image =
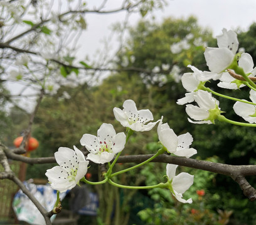
[[[249,123],[256,123],[256,98],[253,97],[256,85],[252,81],[256,75],[256,68],[253,68],[252,56],[248,53],[237,53],[239,43],[235,32],[227,29],[223,29],[222,32],[223,34],[216,36],[218,47],[205,49],[205,60],[210,71],[200,71],[195,66],[188,66],[193,73],[184,73],[181,78],[183,87],[188,93],[184,98],[178,99],[177,104],[187,104],[186,113],[191,118],[188,119],[190,123],[214,124],[215,120],[225,120],[227,123],[238,124],[221,115],[224,112],[220,110],[219,101],[212,96],[215,94],[237,101],[233,106],[235,113]],[[248,86],[252,89],[250,92],[252,102],[215,93],[205,87],[206,81],[210,79],[219,81],[217,85],[225,89],[240,89]],[[193,102],[198,106],[188,104]]]

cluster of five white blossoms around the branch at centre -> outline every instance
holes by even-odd
[[[89,181],[86,181],[85,178],[90,177],[87,176],[87,168],[90,161],[97,164],[110,163],[115,156],[117,158],[119,157],[129,135],[134,133],[134,131],[149,131],[157,123],[159,123],[157,133],[159,141],[163,144],[163,148],[157,152],[155,157],[162,153],[163,149],[168,151],[168,153],[186,158],[196,154],[195,149],[189,148],[193,142],[191,134],[186,133],[176,136],[173,129],[169,128],[167,123],[163,124],[163,116],[158,121],[152,122],[154,117],[151,111],[149,109],[137,110],[136,104],[131,99],[124,101],[123,109],[114,108],[113,111],[115,119],[128,129],[127,136],[123,132],[116,133],[112,124],[103,123],[97,131],[97,136],[83,134],[80,139],[81,145],[85,146],[89,152],[86,159],[83,153],[75,146],[75,151],[69,148],[59,148],[58,152],[55,153],[55,159],[59,166],[46,171],[46,176],[53,189],[65,192],[75,187],[80,181],[88,183]],[[105,181],[111,178],[113,165],[114,163],[109,164],[109,177]],[[193,184],[193,176],[187,173],[181,173],[175,176],[176,168],[177,165],[168,164],[166,168],[168,182],[164,187],[169,188],[178,201],[191,203],[191,199],[186,201],[182,196],[184,191]],[[119,173],[122,173],[122,171]],[[110,183],[115,184],[112,181]]]

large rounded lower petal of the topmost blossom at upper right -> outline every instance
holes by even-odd
[[[211,72],[221,73],[232,63],[234,54],[226,47],[206,47],[205,60]]]

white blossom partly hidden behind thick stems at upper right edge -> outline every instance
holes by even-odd
[[[256,75],[256,68],[253,69],[254,64],[252,56],[250,56],[250,54],[242,53],[238,61],[238,66],[240,68],[243,68],[245,74],[250,73],[248,77],[253,77]],[[220,83],[218,83],[217,85],[220,88],[226,89],[238,89],[245,86],[245,84],[243,84],[243,81],[239,81],[233,78],[229,73],[223,73],[220,77]]]

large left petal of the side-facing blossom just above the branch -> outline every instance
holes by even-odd
[[[169,153],[174,153],[178,145],[178,137],[173,129],[162,129],[158,133],[159,141],[168,150]]]

